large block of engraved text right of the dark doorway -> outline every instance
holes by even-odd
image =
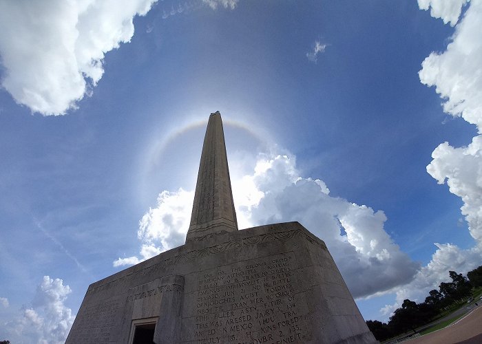
[[[185,343],[295,343],[306,332],[304,293],[294,287],[293,253],[199,273],[186,295],[195,314],[183,323]],[[300,304],[304,303],[304,304]]]

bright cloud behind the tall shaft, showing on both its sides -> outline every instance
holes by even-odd
[[[354,297],[410,282],[419,264],[386,233],[385,214],[329,193],[322,180],[300,177],[289,155],[260,155],[252,174],[233,180],[240,228],[299,221],[326,242]],[[117,259],[114,266],[183,244],[192,202],[193,192],[160,193],[156,208],[140,221],[140,257]]]

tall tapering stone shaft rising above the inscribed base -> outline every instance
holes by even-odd
[[[207,123],[186,241],[233,230],[238,230],[238,222],[229,179],[221,114],[216,111],[209,116]]]

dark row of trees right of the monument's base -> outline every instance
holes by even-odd
[[[467,273],[467,277],[455,271],[449,272],[451,282],[442,282],[439,290],[433,289],[422,303],[409,299],[404,300],[390,316],[388,323],[368,320],[366,325],[378,341],[384,341],[409,330],[414,332],[417,327],[430,323],[443,310],[454,303],[460,303],[470,297],[472,288],[482,287],[482,266]]]

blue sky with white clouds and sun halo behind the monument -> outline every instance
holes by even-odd
[[[0,340],[180,246],[209,114],[240,228],[298,221],[364,319],[482,265],[482,1],[0,0]]]

